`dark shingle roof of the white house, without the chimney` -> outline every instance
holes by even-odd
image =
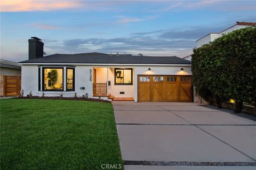
[[[53,54],[43,58],[31,59],[20,63],[89,63],[89,64],[191,64],[177,56],[134,56],[131,54]]]

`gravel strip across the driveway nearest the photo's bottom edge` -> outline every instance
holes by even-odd
[[[193,162],[193,161],[124,160],[124,165],[147,165],[147,166],[256,166],[256,163],[255,162]]]

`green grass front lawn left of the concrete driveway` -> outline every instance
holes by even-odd
[[[111,103],[0,102],[1,169],[101,169],[101,164],[123,164]]]

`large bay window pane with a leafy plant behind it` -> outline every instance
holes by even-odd
[[[43,67],[43,91],[63,91],[63,68]]]

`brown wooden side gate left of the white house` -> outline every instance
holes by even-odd
[[[1,75],[1,96],[19,96],[21,91],[21,76]]]

